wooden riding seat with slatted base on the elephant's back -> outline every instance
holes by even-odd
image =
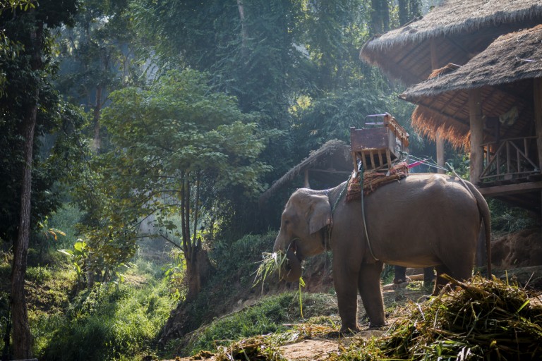
[[[368,123],[371,118],[375,121]],[[363,128],[350,128],[350,149],[354,177],[359,173],[359,161],[364,171],[390,171],[402,152],[409,152],[409,133],[389,113],[369,115]]]

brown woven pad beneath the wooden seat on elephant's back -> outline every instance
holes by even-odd
[[[347,188],[347,202],[361,198],[361,182],[363,181],[363,195],[369,195],[377,188],[393,181],[400,181],[409,175],[409,167],[405,162],[392,166],[390,171],[364,171],[358,176],[350,178]]]

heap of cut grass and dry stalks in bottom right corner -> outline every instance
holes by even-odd
[[[476,277],[406,307],[378,339],[353,343],[332,360],[540,360],[542,306],[517,286]]]

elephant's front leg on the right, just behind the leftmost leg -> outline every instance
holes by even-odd
[[[380,289],[380,274],[383,267],[383,262],[378,261],[373,264],[361,264],[359,270],[359,294],[369,317],[369,322],[371,322],[370,327],[380,327],[386,324],[384,301]]]

